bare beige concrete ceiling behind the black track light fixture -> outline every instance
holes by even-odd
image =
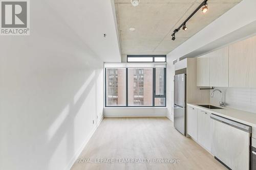
[[[130,0],[115,0],[122,55],[168,54],[242,0],[209,0],[208,12],[202,14],[201,10],[198,11],[186,23],[187,31],[180,30],[176,40],[171,40],[173,30],[202,1],[140,0],[139,6],[133,7]],[[130,31],[131,27],[136,30]]]

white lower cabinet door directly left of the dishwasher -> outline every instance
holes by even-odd
[[[210,113],[198,109],[198,143],[210,151]]]

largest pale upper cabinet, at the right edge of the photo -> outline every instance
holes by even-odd
[[[256,87],[256,37],[229,45],[229,87]]]

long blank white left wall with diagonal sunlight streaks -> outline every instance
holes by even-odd
[[[102,118],[103,61],[32,4],[31,35],[0,37],[0,169],[69,169]]]

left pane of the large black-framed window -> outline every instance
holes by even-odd
[[[125,68],[106,68],[106,106],[125,106]]]

